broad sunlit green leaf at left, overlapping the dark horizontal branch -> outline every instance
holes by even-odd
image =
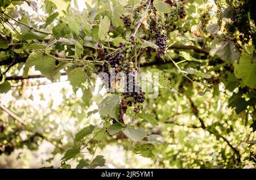
[[[56,61],[55,58],[39,54],[33,50],[25,65],[26,68],[35,66],[35,70],[40,71],[47,79],[53,81],[60,78],[60,70],[65,65],[65,63],[56,63]]]

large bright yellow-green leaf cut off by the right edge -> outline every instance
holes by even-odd
[[[237,79],[242,79],[242,87],[256,88],[256,62],[251,55],[242,53],[239,63],[234,63],[234,74]]]

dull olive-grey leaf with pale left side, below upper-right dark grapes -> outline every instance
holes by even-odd
[[[240,58],[240,52],[234,46],[233,41],[219,42],[218,38],[214,39],[212,42],[210,55],[218,55],[218,57],[230,63],[233,63]]]

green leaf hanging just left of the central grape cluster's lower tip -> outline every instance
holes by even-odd
[[[109,114],[111,118],[118,120],[117,109],[119,108],[119,101],[120,100],[118,95],[106,97],[104,100],[101,101],[99,105],[99,113],[104,117]]]

